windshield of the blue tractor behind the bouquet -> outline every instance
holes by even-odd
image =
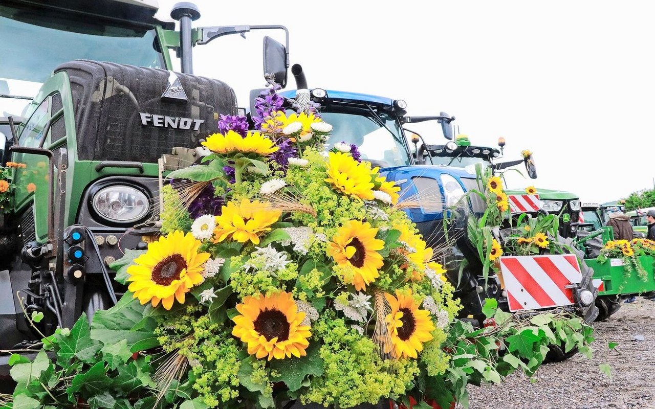
[[[373,166],[388,168],[411,164],[407,147],[403,144],[402,130],[398,122],[386,113],[361,112],[329,112],[321,110],[325,122],[331,124],[333,130],[327,141],[328,149],[337,142],[357,145],[362,159],[368,160]]]

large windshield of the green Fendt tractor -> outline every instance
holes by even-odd
[[[142,67],[164,66],[153,44],[155,29],[119,26],[75,14],[59,15],[0,6],[0,116],[29,102],[54,67],[71,60],[97,60]]]

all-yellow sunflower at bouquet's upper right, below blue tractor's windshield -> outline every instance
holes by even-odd
[[[329,152],[327,166],[327,183],[350,196],[364,200],[373,200],[373,187],[371,169],[364,163],[357,162],[343,152]]]

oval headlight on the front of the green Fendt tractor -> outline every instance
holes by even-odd
[[[124,185],[112,185],[98,190],[91,204],[100,217],[119,223],[138,221],[149,209],[148,198],[143,192]]]

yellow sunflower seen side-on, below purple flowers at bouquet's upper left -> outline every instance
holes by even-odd
[[[277,151],[279,147],[274,146],[274,142],[259,132],[248,132],[242,137],[233,130],[229,130],[225,135],[214,133],[209,135],[202,146],[217,154],[234,154],[234,153],[256,153],[261,156],[268,156]]]

